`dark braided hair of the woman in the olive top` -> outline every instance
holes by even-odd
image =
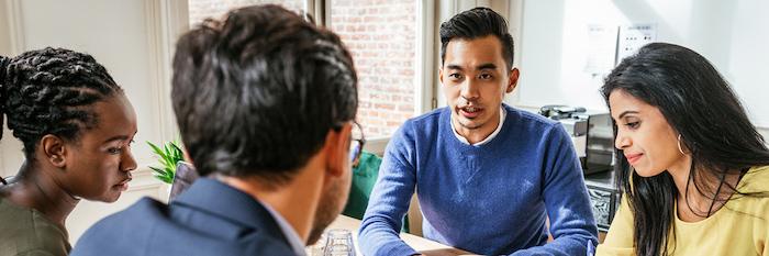
[[[88,107],[122,91],[88,54],[47,47],[0,56],[0,136],[4,114],[32,160],[46,134],[74,141],[82,130],[96,127],[98,116]]]

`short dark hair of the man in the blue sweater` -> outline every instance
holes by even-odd
[[[502,44],[508,69],[513,68],[513,36],[508,32],[508,22],[489,8],[464,11],[441,24],[441,65],[446,58],[446,46],[454,38],[475,40],[494,35]]]

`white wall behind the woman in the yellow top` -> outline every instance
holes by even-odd
[[[767,11],[769,1],[764,0],[524,0],[520,97],[513,103],[605,109],[598,92],[603,75],[583,71],[588,24],[651,22],[657,24],[657,41],[684,45],[710,59],[767,134]]]

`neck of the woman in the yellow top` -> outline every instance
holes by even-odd
[[[677,214],[681,221],[696,222],[707,219],[707,214],[713,214],[718,211],[734,193],[728,189],[729,186],[723,185],[718,189],[721,177],[715,177],[713,171],[698,169],[698,176],[689,180],[691,174],[692,159],[691,155],[684,155],[678,164],[668,168],[668,171],[673,178],[676,188],[678,189]],[[739,175],[726,175],[724,182],[736,187],[739,181]],[[696,188],[698,182],[700,189]],[[687,192],[688,191],[688,192]],[[717,194],[716,194],[717,193]],[[715,202],[713,198],[716,198]]]

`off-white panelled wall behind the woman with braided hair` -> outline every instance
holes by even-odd
[[[169,2],[172,1],[0,1],[0,55],[15,56],[45,46],[91,54],[123,87],[137,113],[138,133],[133,153],[140,168],[134,172],[131,188],[112,204],[80,202],[67,220],[73,243],[93,222],[142,196],[167,198],[167,187],[155,180],[147,168],[156,160],[145,142],[174,138],[168,70],[169,45],[176,36],[169,35],[168,13],[172,13]],[[3,135],[0,175],[9,176],[16,172],[23,155],[21,143],[10,132]]]

